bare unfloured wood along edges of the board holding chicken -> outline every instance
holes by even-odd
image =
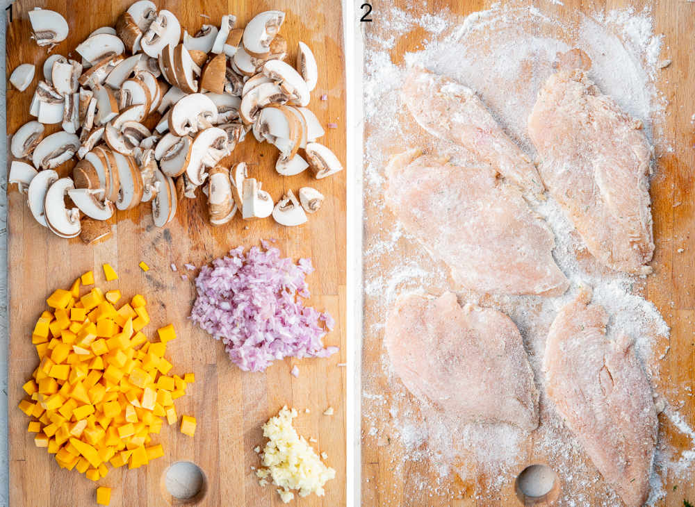
[[[623,1],[623,0],[563,0],[564,6],[551,6],[554,2],[523,1],[521,5],[534,4],[549,10],[554,16],[563,18],[571,10],[581,10],[584,13],[601,13],[616,8],[633,6],[640,12],[645,6],[651,6],[655,20],[655,33],[664,34],[664,58],[670,58],[673,63],[660,74],[659,89],[669,100],[667,108],[667,138],[673,145],[673,152],[662,153],[657,161],[657,174],[651,184],[653,202],[654,235],[657,248],[653,263],[655,273],[648,276],[643,295],[652,301],[660,310],[664,319],[671,326],[671,349],[660,363],[662,385],[692,386],[695,379],[693,359],[695,343],[693,338],[692,318],[695,315],[695,291],[692,285],[695,281],[695,240],[691,231],[695,230],[694,205],[692,192],[695,172],[695,143],[692,115],[695,113],[695,54],[692,51],[695,41],[695,3],[673,1]],[[559,2],[558,2],[559,3]],[[373,2],[373,22],[363,23],[366,51],[373,49],[383,51],[384,47],[377,42],[393,38],[389,33],[388,23],[382,10],[397,7],[416,17],[421,11],[442,13],[446,10],[452,15],[464,17],[470,13],[491,7],[493,1],[488,0],[430,0],[427,6],[413,6],[409,0],[393,0],[391,2]],[[417,13],[417,14],[416,14]],[[374,36],[373,38],[371,36]],[[434,35],[417,27],[413,31],[399,37],[395,36],[393,49],[390,50],[393,63],[402,64],[404,54],[423,49],[423,40],[433,40]],[[407,113],[404,113],[407,117]],[[409,126],[402,128],[407,131]],[[373,131],[366,122],[365,137]],[[404,147],[395,145],[389,147],[393,153],[402,151]],[[680,203],[680,205],[676,205]],[[674,206],[676,205],[676,206]],[[366,201],[365,206],[365,238],[368,247],[370,238],[376,238],[383,231],[393,231],[395,221],[390,213],[382,213],[379,206]],[[419,250],[413,242],[411,256]],[[678,249],[685,251],[678,252]],[[393,256],[395,262],[398,257]],[[368,263],[370,260],[365,259]],[[434,264],[434,263],[433,263]],[[386,266],[383,267],[386,269]],[[369,279],[365,280],[369,283]],[[439,292],[444,288],[437,288]],[[439,292],[435,292],[439,294]],[[384,348],[382,347],[383,328],[380,317],[379,297],[365,295],[363,321],[363,387],[369,396],[363,398],[363,412],[382,414],[382,416],[363,418],[362,424],[362,475],[361,494],[363,505],[368,506],[516,506],[521,501],[516,496],[513,480],[505,483],[500,493],[491,492],[486,486],[494,478],[478,472],[473,481],[461,481],[451,474],[442,487],[436,487],[437,467],[440,463],[430,460],[406,461],[402,463],[403,447],[397,439],[389,438],[389,415],[387,410],[391,403],[393,392],[389,380],[383,373],[382,365]],[[660,344],[663,346],[663,344]],[[411,397],[412,399],[412,397]],[[668,397],[669,404],[679,406],[684,400],[680,413],[689,426],[695,425],[695,406],[692,397],[687,392]],[[374,430],[377,431],[374,431]],[[452,439],[457,435],[451,435]],[[676,452],[692,448],[693,442],[676,429],[667,417],[660,415],[660,439],[667,442]],[[519,465],[515,473],[532,463],[546,463],[548,456],[534,447],[532,438],[528,442],[530,453],[529,463]],[[678,454],[676,454],[678,456]],[[397,466],[398,464],[402,464]],[[473,465],[475,466],[475,465]],[[418,480],[414,480],[417,477]],[[512,475],[513,479],[514,475]],[[584,490],[584,499],[576,505],[604,505],[605,497],[600,491],[600,476],[596,474],[597,483]],[[429,478],[429,485],[420,488],[421,478]],[[664,490],[667,496],[658,505],[682,506],[684,499],[695,502],[693,472],[676,479],[673,476],[664,477]],[[562,479],[571,481],[571,479]],[[567,487],[567,483],[564,483]],[[455,493],[446,493],[455,492]],[[460,492],[460,493],[459,493]],[[542,504],[545,505],[545,504]]]

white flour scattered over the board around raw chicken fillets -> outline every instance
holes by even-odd
[[[563,5],[559,0],[549,3]],[[514,481],[518,473],[515,467],[528,451],[513,429],[457,426],[452,431],[444,416],[420,406],[405,390],[382,347],[386,313],[398,294],[441,294],[452,288],[448,268],[434,262],[384,206],[384,167],[393,154],[413,146],[441,154],[456,152],[452,144],[422,131],[400,103],[398,92],[407,65],[423,65],[476,90],[509,135],[534,158],[526,119],[537,91],[553,72],[556,53],[579,47],[593,61],[591,78],[621,108],[644,122],[657,154],[670,146],[662,132],[667,101],[655,85],[664,61],[662,36],[655,35],[648,8],[639,12],[614,10],[593,17],[576,12],[562,23],[553,17],[555,6],[541,10],[497,4],[466,18],[446,11],[427,15],[426,9],[420,4],[414,4],[407,13],[384,8],[365,34],[363,343],[365,357],[371,360],[363,362],[363,453],[388,446],[389,465],[408,477],[403,486],[406,491],[395,492],[393,498],[388,488],[379,487],[379,501],[384,504],[397,504],[402,498],[398,494],[409,495],[420,504],[432,496],[473,495],[484,499],[486,492],[494,494]],[[391,55],[396,44],[415,29],[426,32],[423,44],[418,46],[422,49],[394,62]],[[534,451],[547,456],[550,466],[561,476],[563,494],[559,505],[588,505],[592,492],[598,491],[603,498],[601,505],[614,506],[619,503],[616,494],[603,484],[546,399],[541,373],[546,335],[557,310],[574,297],[580,285],[594,288],[594,302],[605,306],[611,315],[609,336],[621,329],[634,338],[635,351],[651,376],[660,404],[665,404],[664,415],[670,421],[667,424],[674,424],[691,440],[692,449],[687,451],[676,451],[660,441],[651,478],[649,503],[653,504],[664,497],[662,477],[676,474],[680,481],[692,481],[690,469],[695,463],[695,433],[678,413],[678,407],[672,406],[673,400],[684,396],[684,389],[660,385],[659,359],[669,354],[669,326],[657,308],[639,296],[644,292],[644,279],[609,272],[597,265],[553,199],[538,204],[537,211],[555,233],[554,255],[571,281],[571,290],[563,297],[550,299],[481,297],[462,291],[459,299],[502,310],[523,335],[541,392],[541,426],[534,432]],[[462,486],[452,474],[457,472],[465,482],[480,470],[487,472],[489,483],[476,485],[473,481],[469,487],[468,481],[468,486]],[[365,474],[364,480],[369,483],[373,477]],[[591,492],[587,491],[589,487]],[[369,488],[365,489],[368,495]]]

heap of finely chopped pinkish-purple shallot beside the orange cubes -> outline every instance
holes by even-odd
[[[243,247],[203,266],[195,279],[197,298],[190,318],[213,338],[222,340],[240,369],[262,372],[286,357],[328,357],[338,347],[322,339],[335,321],[304,306],[309,297],[306,275],[311,260],[297,264],[282,258],[270,242],[263,249]]]

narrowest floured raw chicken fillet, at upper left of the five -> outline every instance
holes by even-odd
[[[543,193],[536,167],[502,131],[471,88],[413,68],[401,95],[411,115],[427,132],[459,144],[522,189],[536,195]]]

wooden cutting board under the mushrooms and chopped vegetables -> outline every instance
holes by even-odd
[[[7,94],[8,135],[28,122],[29,102],[35,85],[42,78],[46,49],[30,39],[27,12],[34,6],[62,13],[70,25],[67,40],[53,49],[66,55],[100,26],[113,26],[130,1],[18,0],[13,6],[13,22],[7,31],[7,71],[20,63],[37,65],[34,81],[23,93]],[[286,13],[281,35],[288,40],[294,61],[297,42],[309,44],[320,69],[319,82],[312,92],[309,106],[324,126],[332,122],[338,128],[326,128],[322,142],[345,160],[345,68],[341,3],[295,1],[166,1],[177,15],[182,28],[195,33],[204,23],[219,24],[222,15],[234,14],[238,26],[257,13],[280,9]],[[73,56],[74,58],[74,56]],[[327,94],[327,101],[321,101]],[[155,441],[161,442],[165,456],[136,470],[111,469],[99,485],[113,488],[111,506],[165,506],[172,498],[163,487],[165,469],[179,460],[190,460],[204,472],[206,493],[199,505],[205,506],[277,506],[281,505],[274,488],[261,488],[252,467],[259,465],[253,449],[263,444],[261,424],[284,405],[294,406],[301,415],[295,427],[306,438],[314,437],[318,451],[326,451],[328,465],[336,469],[336,479],[329,481],[326,495],[295,500],[305,506],[345,504],[345,172],[320,181],[301,174],[284,178],[275,173],[277,150],[262,146],[252,135],[236,147],[229,163],[245,161],[252,176],[263,181],[277,201],[284,190],[297,192],[311,185],[326,195],[325,203],[307,224],[284,228],[272,219],[243,222],[235,217],[229,224],[214,228],[208,225],[203,197],[185,199],[179,204],[173,222],[156,228],[150,207],[141,205],[128,213],[117,212],[113,238],[96,246],[85,246],[79,239],[63,240],[35,222],[25,198],[9,191],[9,435],[10,435],[10,504],[27,507],[74,507],[95,505],[95,483],[77,472],[60,469],[53,456],[33,444],[27,433],[28,417],[17,404],[23,397],[22,384],[38,364],[31,345],[33,322],[44,309],[45,299],[56,288],[69,286],[77,276],[94,270],[101,288],[118,288],[125,297],[142,293],[148,300],[152,322],[145,331],[156,337],[156,329],[172,322],[179,338],[170,342],[167,358],[173,372],[194,372],[196,382],[185,397],[176,402],[179,415],[197,419],[195,438],[179,433],[177,426],[165,424]],[[61,167],[68,174],[70,167]],[[277,361],[265,373],[241,372],[224,353],[222,344],[197,329],[187,316],[195,299],[191,281],[181,280],[184,263],[202,265],[223,255],[231,248],[251,247],[263,238],[277,238],[284,256],[308,257],[316,272],[308,277],[313,297],[309,304],[328,310],[336,318],[336,329],[327,335],[325,344],[341,347],[328,359]],[[151,268],[144,273],[138,263],[144,260]],[[101,270],[111,263],[120,278],[106,283]],[[170,264],[179,272],[174,273]],[[190,276],[191,274],[189,274]],[[290,375],[293,365],[300,369],[297,379]],[[328,407],[335,415],[322,415]],[[304,413],[310,408],[311,413]]]

